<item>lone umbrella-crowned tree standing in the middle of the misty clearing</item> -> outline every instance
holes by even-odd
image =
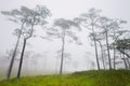
[[[78,42],[78,38],[76,37],[76,33],[73,32],[73,29],[72,29],[73,27],[76,27],[78,28],[78,30],[80,30],[80,27],[77,23],[69,19],[58,18],[54,22],[53,27],[48,29],[48,32],[47,32],[49,35],[54,38],[60,38],[62,41],[60,74],[62,74],[63,72],[66,38],[70,37],[72,40]]]

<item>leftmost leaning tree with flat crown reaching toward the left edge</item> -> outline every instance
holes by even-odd
[[[26,16],[22,13],[22,9],[21,9],[21,11],[18,11],[18,10],[1,11],[1,14],[5,15],[5,16],[9,16],[9,20],[21,25],[21,29],[18,31],[17,30],[15,31],[15,34],[17,35],[17,41],[16,41],[16,45],[14,47],[12,59],[11,59],[11,62],[10,62],[10,66],[9,66],[9,71],[8,71],[8,74],[6,74],[6,80],[10,80],[11,72],[12,72],[12,67],[13,67],[14,59],[15,59],[15,56],[16,56],[16,51],[17,51],[20,39],[21,39],[21,35],[22,35],[22,30],[24,28],[24,25],[26,23],[26,18],[28,16]]]

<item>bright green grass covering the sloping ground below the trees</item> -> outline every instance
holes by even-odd
[[[66,75],[25,76],[1,81],[0,86],[130,86],[130,71],[82,71]]]

